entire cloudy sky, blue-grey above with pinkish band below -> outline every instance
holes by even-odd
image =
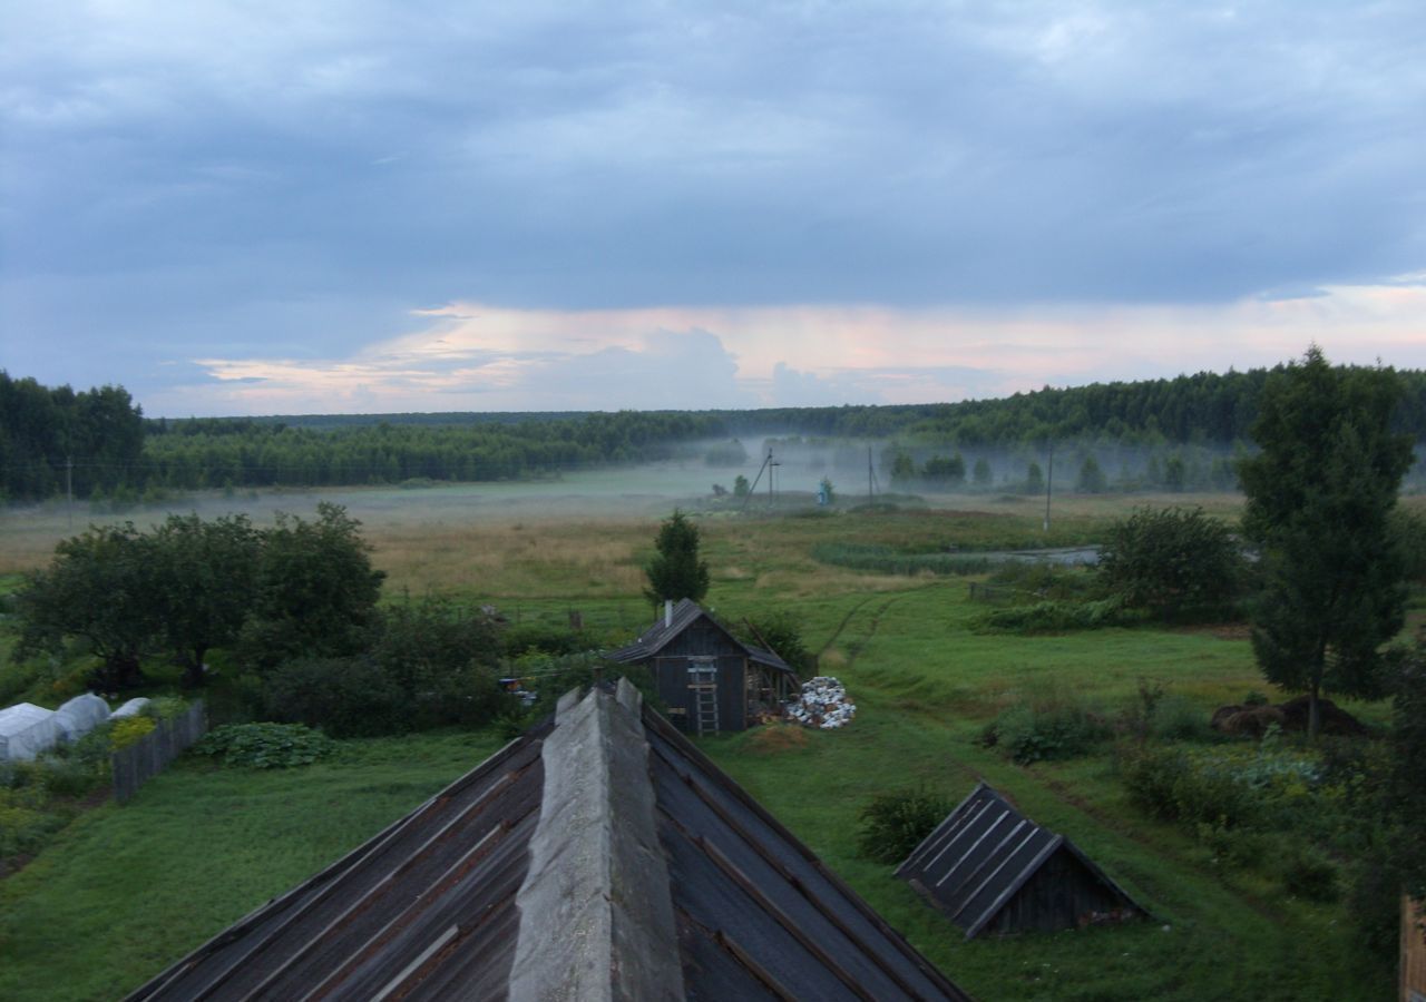
[[[0,0],[0,368],[145,413],[1426,368],[1419,0]]]

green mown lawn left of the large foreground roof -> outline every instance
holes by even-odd
[[[297,770],[180,760],[0,881],[0,998],[118,998],[502,744],[491,728],[347,741]]]

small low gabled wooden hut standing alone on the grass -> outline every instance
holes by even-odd
[[[1037,825],[985,783],[896,872],[967,939],[1148,914],[1074,842]]]

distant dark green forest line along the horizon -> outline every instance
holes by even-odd
[[[965,463],[960,449],[1024,453],[1081,443],[1082,455],[1071,460],[1065,453],[1065,482],[1092,489],[1105,480],[1085,443],[1101,452],[1186,446],[1182,455],[1149,456],[1162,469],[1155,477],[1149,468],[1145,482],[1225,487],[1232,475],[1222,458],[1189,476],[1192,449],[1245,449],[1268,373],[1198,373],[930,405],[145,419],[121,386],[76,392],[0,371],[0,497],[40,500],[71,492],[81,499],[137,499],[153,490],[516,480],[696,458],[703,455],[699,443],[759,433],[840,442],[846,465],[864,462],[864,446],[847,443],[893,439],[897,445],[878,458],[888,479],[911,482],[910,472],[960,483],[970,475],[980,486],[988,486],[987,468]],[[1396,375],[1403,393],[1393,430],[1426,442],[1426,372]],[[730,450],[714,448],[707,458],[720,465]],[[1028,463],[1027,485],[1037,473],[1044,473],[1038,463]]]

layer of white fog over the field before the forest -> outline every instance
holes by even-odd
[[[767,462],[771,453],[771,463]],[[893,466],[904,455],[917,476],[897,479]],[[964,479],[931,480],[920,476],[937,458],[964,463]],[[800,436],[749,435],[743,439],[680,442],[674,458],[640,466],[566,469],[529,480],[449,483],[415,480],[372,487],[235,489],[228,492],[175,493],[157,503],[116,509],[111,503],[63,497],[36,506],[0,512],[0,573],[46,563],[54,543],[88,525],[134,522],[140,527],[170,513],[197,512],[204,517],[245,513],[258,526],[271,525],[278,512],[312,517],[328,500],[372,530],[402,530],[458,523],[538,523],[542,520],[632,520],[655,526],[673,507],[710,517],[740,512],[796,510],[819,505],[823,480],[833,486],[834,506],[844,509],[868,497],[933,509],[1007,509],[1042,505],[1044,479],[1052,477],[1055,495],[1081,492],[1084,465],[1094,458],[1102,477],[1099,489],[1121,493],[1185,490],[1192,503],[1202,490],[1231,492],[1232,450],[1226,446],[1164,445],[1154,449],[1102,443],[1057,443],[1045,448],[957,450],[948,446],[891,440],[804,439]],[[868,470],[870,459],[870,470]],[[977,483],[975,468],[981,468]],[[1052,466],[1051,466],[1052,460]],[[903,469],[906,469],[903,462]],[[1031,470],[1040,470],[1038,486]],[[1419,468],[1417,468],[1419,469]],[[988,473],[988,476],[987,476]],[[752,493],[736,495],[744,477]],[[1165,477],[1178,477],[1166,486]],[[1035,500],[1040,499],[1040,500]]]

